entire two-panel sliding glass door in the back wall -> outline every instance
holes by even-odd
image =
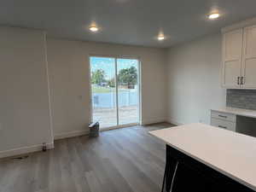
[[[100,128],[139,122],[139,61],[90,57],[92,120]]]

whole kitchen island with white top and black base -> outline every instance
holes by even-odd
[[[166,143],[163,192],[256,191],[256,138],[211,125],[149,131]]]

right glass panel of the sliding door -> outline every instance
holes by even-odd
[[[119,125],[139,122],[139,61],[117,59]]]

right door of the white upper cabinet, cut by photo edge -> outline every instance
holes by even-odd
[[[244,28],[242,76],[242,87],[256,88],[256,26]]]

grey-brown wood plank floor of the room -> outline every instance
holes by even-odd
[[[23,160],[0,160],[0,192],[160,192],[165,144],[148,131],[170,124],[73,137]]]

